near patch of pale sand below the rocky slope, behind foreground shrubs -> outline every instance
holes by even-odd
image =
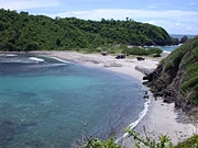
[[[185,119],[180,119],[182,114]],[[146,138],[145,132],[151,139],[158,140],[160,136],[167,135],[173,145],[177,145],[191,137],[197,132],[197,126],[179,110],[176,110],[174,103],[167,104],[163,100],[153,100],[148,106],[148,112],[134,128],[142,138]],[[121,140],[124,148],[134,146],[132,137],[125,137]]]

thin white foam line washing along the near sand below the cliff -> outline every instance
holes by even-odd
[[[146,90],[147,91],[147,90]],[[128,127],[130,129],[133,129],[136,127],[136,125],[142,121],[142,118],[147,114],[147,111],[148,111],[148,106],[150,106],[150,103],[151,103],[151,99],[152,99],[152,93],[150,91],[147,91],[147,95],[148,95],[148,99],[146,99],[145,103],[144,103],[144,109],[143,111],[139,114],[139,118],[131,123]],[[123,138],[125,138],[129,134],[128,133],[124,133],[121,137],[117,138],[116,140],[116,144],[118,144],[119,141],[121,141]]]

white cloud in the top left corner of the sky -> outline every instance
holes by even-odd
[[[57,0],[1,0],[0,7],[11,10],[47,8],[58,5]]]

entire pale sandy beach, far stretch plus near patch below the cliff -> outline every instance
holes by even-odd
[[[161,58],[145,57],[145,60],[140,61],[135,57],[116,59],[114,56],[111,55],[102,56],[100,54],[81,54],[76,52],[34,52],[33,54],[80,62],[89,67],[103,68],[134,77],[141,82],[143,82],[142,78],[144,77],[144,73],[154,70],[162,58],[167,56],[165,54],[165,56]],[[163,103],[162,100],[155,101],[152,98],[146,116],[144,116],[135,129],[142,133],[143,126],[145,126],[146,130],[151,133],[151,136],[154,138],[160,135],[168,134],[172,141],[176,145],[196,133],[196,126],[188,123],[188,119],[179,119],[178,114],[183,113],[175,110],[174,103],[166,104]],[[131,138],[128,137],[123,138],[121,144],[125,148],[133,147]]]

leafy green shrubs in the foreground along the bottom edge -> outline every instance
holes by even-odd
[[[139,133],[133,129],[127,128],[125,132],[131,137],[133,146],[131,148],[197,148],[198,147],[198,135],[194,135],[186,141],[179,143],[174,146],[172,140],[167,135],[162,135],[158,139],[153,139],[150,137],[144,128],[144,137],[141,137]],[[95,137],[86,137],[75,145],[76,148],[123,148],[122,145],[116,144],[114,138],[109,138],[106,140],[100,140]]]

